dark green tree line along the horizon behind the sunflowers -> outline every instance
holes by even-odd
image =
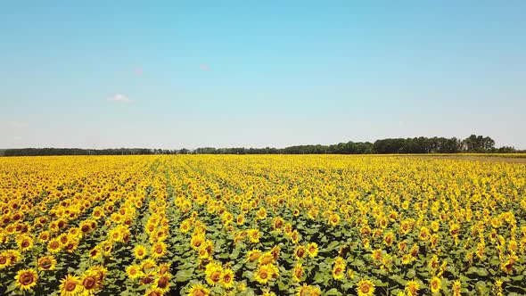
[[[2,152],[2,151],[0,151]],[[6,149],[4,156],[45,155],[144,155],[144,154],[397,154],[397,153],[515,153],[526,152],[514,147],[496,148],[489,136],[468,136],[464,140],[456,137],[389,138],[371,142],[347,142],[331,145],[296,145],[285,148],[213,148],[189,149],[78,149],[78,148],[23,148]]]

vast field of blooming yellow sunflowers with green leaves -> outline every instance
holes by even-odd
[[[1,295],[524,295],[526,164],[0,159]]]

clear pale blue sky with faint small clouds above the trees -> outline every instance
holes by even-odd
[[[524,1],[0,4],[1,147],[526,148]]]

